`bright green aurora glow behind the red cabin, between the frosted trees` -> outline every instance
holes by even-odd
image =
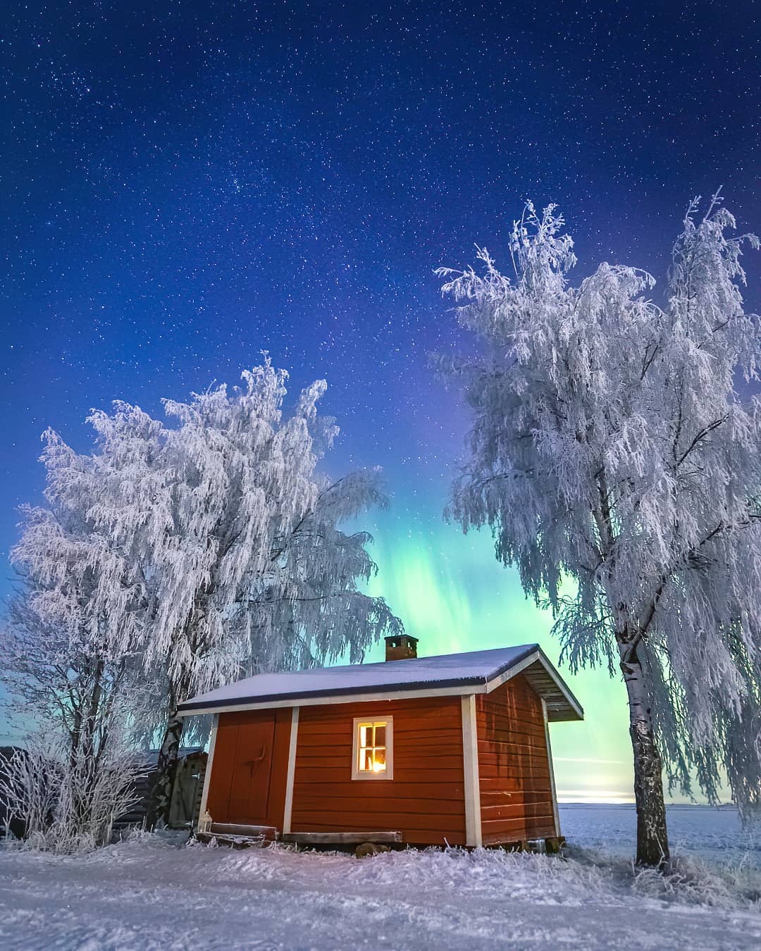
[[[401,508],[401,506],[400,506]],[[382,594],[421,655],[537,642],[553,662],[559,644],[550,611],[527,600],[517,572],[500,566],[488,532],[463,535],[440,519],[411,530],[392,510],[376,517],[372,554],[378,574],[367,587]],[[366,658],[382,659],[376,645]],[[572,674],[560,667],[585,712],[583,723],[551,728],[558,799],[634,802],[629,723],[623,684],[607,669]]]

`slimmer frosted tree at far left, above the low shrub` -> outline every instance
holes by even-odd
[[[97,757],[107,745],[112,708],[134,680],[145,643],[145,586],[123,549],[97,529],[91,460],[45,434],[47,507],[25,508],[11,559],[20,591],[4,631],[4,667],[25,716],[59,722],[72,752]],[[76,468],[81,491],[65,492]]]

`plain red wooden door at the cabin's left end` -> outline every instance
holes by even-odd
[[[266,825],[275,711],[246,714],[237,730],[227,822]]]

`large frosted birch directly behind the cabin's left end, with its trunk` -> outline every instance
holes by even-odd
[[[92,487],[98,532],[145,585],[144,662],[167,723],[157,815],[168,808],[180,701],[261,670],[357,661],[400,629],[358,587],[375,571],[369,536],[339,527],[384,504],[379,474],[331,481],[318,471],[338,433],[317,412],[324,382],[284,415],[283,371],[267,359],[243,376],[232,393],[166,400],[174,425],[127,403],[93,413],[92,463],[71,457],[58,473],[67,493]]]

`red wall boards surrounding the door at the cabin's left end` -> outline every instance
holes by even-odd
[[[241,751],[237,749],[239,742],[238,728],[262,716],[275,718],[269,774],[269,798],[262,825],[274,825],[277,829],[283,828],[285,780],[288,770],[288,744],[291,728],[290,708],[220,713],[206,801],[206,808],[215,823],[242,823],[245,825],[249,821],[246,816],[231,814],[229,808],[230,785],[236,756],[241,754]]]

